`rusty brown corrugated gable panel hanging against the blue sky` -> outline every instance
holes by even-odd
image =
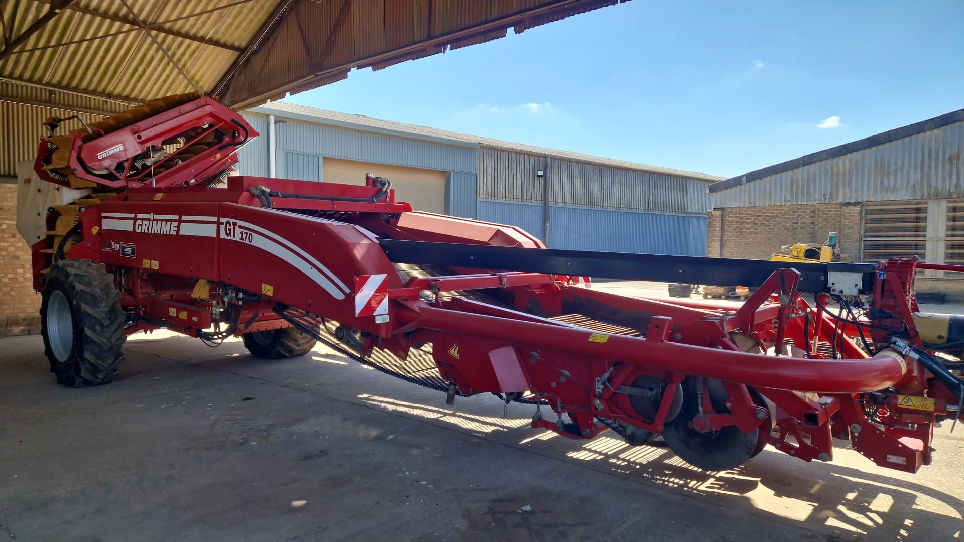
[[[522,30],[619,1],[302,0],[281,15],[268,40],[226,74],[216,93],[243,108],[319,86],[350,68],[385,68],[450,46],[495,40],[510,26]]]

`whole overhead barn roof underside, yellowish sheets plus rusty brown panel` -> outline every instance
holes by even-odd
[[[197,91],[243,109],[625,0],[7,0],[0,100],[113,114]]]

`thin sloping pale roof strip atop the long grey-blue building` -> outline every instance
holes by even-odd
[[[522,143],[512,143],[508,141],[501,141],[497,139],[473,136],[469,134],[462,134],[458,132],[450,132],[447,130],[441,130],[438,128],[430,128],[428,126],[420,126],[417,124],[406,124],[404,122],[392,122],[385,121],[382,119],[374,119],[372,117],[365,117],[363,115],[353,115],[350,113],[339,113],[337,111],[329,111],[327,109],[318,109],[315,107],[308,107],[306,105],[298,105],[295,103],[287,103],[283,101],[273,101],[266,103],[264,105],[254,107],[250,111],[254,113],[261,113],[264,115],[276,115],[281,117],[289,117],[293,119],[301,119],[308,122],[319,122],[323,124],[334,124],[343,127],[349,127],[364,131],[379,131],[383,133],[390,133],[398,135],[401,137],[409,137],[416,139],[430,139],[441,141],[451,144],[461,144],[461,145],[475,145],[475,146],[485,146],[492,147],[495,149],[506,149],[515,150],[519,152],[525,152],[529,154],[536,154],[540,156],[551,156],[557,158],[565,158],[568,160],[574,160],[577,162],[587,162],[591,164],[598,164],[604,166],[611,166],[615,168],[622,168],[628,170],[644,171],[651,173],[658,173],[669,176],[683,176],[687,178],[696,178],[701,180],[706,180],[709,182],[721,180],[721,176],[710,176],[707,174],[701,174],[697,172],[688,172],[684,170],[676,170],[672,168],[663,168],[659,166],[652,166],[648,164],[639,164],[637,162],[629,162],[627,160],[617,160],[615,158],[605,158],[603,156],[593,156],[591,154],[583,154],[581,152],[572,152],[569,150],[560,149],[549,149],[546,147],[536,147],[533,145],[525,145]]]

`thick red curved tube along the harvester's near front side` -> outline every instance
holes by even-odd
[[[599,334],[568,326],[438,309],[424,303],[408,306],[395,314],[401,323],[415,323],[440,332],[501,340],[528,348],[561,350],[775,390],[875,392],[896,385],[908,370],[899,354],[890,349],[870,359],[816,360]],[[600,340],[600,335],[605,339]]]

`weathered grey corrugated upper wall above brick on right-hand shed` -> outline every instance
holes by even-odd
[[[942,200],[964,194],[964,122],[710,194],[715,207]]]

